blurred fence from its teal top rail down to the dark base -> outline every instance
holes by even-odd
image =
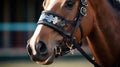
[[[35,27],[35,22],[1,22],[0,61],[28,59],[27,40]]]

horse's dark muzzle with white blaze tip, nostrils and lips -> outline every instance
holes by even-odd
[[[39,64],[48,65],[53,62],[54,56],[50,55],[46,44],[42,41],[39,41],[35,45],[35,51],[36,51],[35,55],[33,54],[33,50],[31,48],[30,44],[27,45],[27,50],[28,50],[28,53],[29,53],[31,59]]]

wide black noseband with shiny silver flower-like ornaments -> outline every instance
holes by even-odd
[[[43,11],[38,21],[38,24],[44,24],[46,26],[49,26],[60,34],[70,37],[71,35],[70,33],[68,33],[67,30],[65,30],[65,27],[68,24],[71,24],[73,26],[74,21],[68,21],[62,16],[56,14],[55,12]]]

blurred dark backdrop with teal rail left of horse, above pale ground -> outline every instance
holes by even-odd
[[[0,61],[25,58],[43,0],[0,0]]]

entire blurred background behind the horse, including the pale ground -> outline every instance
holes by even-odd
[[[48,66],[30,60],[26,51],[27,40],[36,28],[43,10],[42,2],[43,0],[0,0],[0,67],[93,67],[77,53],[60,57]],[[84,49],[89,53],[87,46]]]

